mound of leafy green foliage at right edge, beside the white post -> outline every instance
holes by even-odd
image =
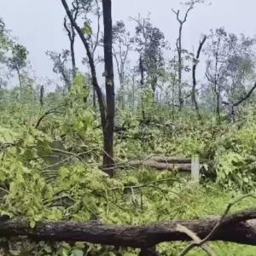
[[[255,137],[256,126],[247,121],[240,130],[232,127],[220,137],[216,152],[218,182],[225,188],[254,190],[255,176]]]

